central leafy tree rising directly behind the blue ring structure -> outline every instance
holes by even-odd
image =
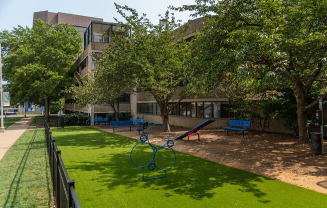
[[[153,25],[145,14],[139,16],[128,6],[115,6],[129,25],[128,38],[132,45],[131,61],[122,62],[126,67],[121,69],[135,78],[138,89],[153,95],[160,107],[162,122],[170,129],[169,112],[174,106],[169,105],[169,100],[174,95],[179,96],[179,100],[189,95],[186,89],[190,74],[185,63],[189,43],[183,38],[185,27],[169,11],[164,17],[159,16],[162,18],[159,25]]]

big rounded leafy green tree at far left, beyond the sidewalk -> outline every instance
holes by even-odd
[[[72,83],[71,71],[81,51],[82,38],[69,24],[35,21],[32,28],[18,26],[0,32],[4,78],[18,102],[45,106],[57,101]]]

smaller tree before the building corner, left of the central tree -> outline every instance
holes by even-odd
[[[99,66],[78,80],[78,85],[71,87],[73,98],[78,104],[109,105],[116,120],[119,120],[119,98],[124,93],[131,93],[136,85],[135,78],[126,70],[133,61],[130,56],[131,47],[127,37],[119,34],[111,37],[111,43],[98,57]]]

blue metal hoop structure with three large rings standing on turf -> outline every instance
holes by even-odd
[[[148,139],[148,133],[150,132],[151,128],[154,127],[154,126],[163,126],[165,130],[168,131],[168,138],[167,138],[167,141],[166,143],[164,143],[163,145],[161,146],[154,146],[151,142],[149,142],[149,139]],[[162,123],[153,123],[147,130],[146,133],[143,133],[141,136],[140,136],[140,142],[136,143],[134,145],[134,147],[132,148],[132,150],[130,151],[130,160],[131,162],[136,166],[136,167],[140,167],[142,168],[142,179],[143,180],[149,180],[149,179],[155,179],[155,178],[162,178],[162,177],[166,177],[167,176],[167,170],[171,169],[175,162],[176,162],[176,153],[174,151],[174,149],[172,148],[174,146],[174,141],[172,139],[170,139],[170,132],[167,128],[167,126],[165,126],[164,124]],[[135,160],[133,159],[133,151],[140,145],[147,145],[151,150],[152,150],[152,157],[148,159],[148,162],[145,163],[145,164],[138,164],[137,162],[135,162]],[[155,162],[155,156],[158,154],[158,152],[161,151],[171,151],[172,154],[173,154],[173,161],[172,163],[170,164],[170,166],[168,167],[160,167],[157,165],[157,163]],[[155,170],[155,169],[158,169],[160,171],[163,171],[164,172],[164,175],[161,175],[161,176],[157,176],[157,177],[144,177],[144,168],[148,168],[149,170]]]

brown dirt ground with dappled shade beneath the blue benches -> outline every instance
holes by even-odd
[[[112,132],[108,125],[96,127]],[[172,126],[171,138],[187,130]],[[327,142],[322,156],[310,153],[308,144],[297,145],[296,138],[286,134],[251,131],[242,137],[242,133],[227,135],[224,130],[198,132],[201,141],[193,134],[190,143],[187,138],[174,140],[174,149],[327,194]],[[115,133],[139,139],[136,128],[116,128]],[[149,141],[157,145],[167,137],[159,127],[149,132]]]

